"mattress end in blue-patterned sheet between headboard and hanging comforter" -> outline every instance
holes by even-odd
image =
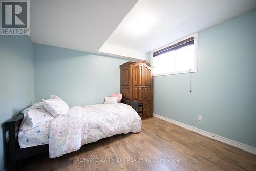
[[[42,124],[30,130],[20,131],[18,133],[18,142],[20,148],[48,144],[50,130],[49,126],[51,121],[48,121],[45,124]]]

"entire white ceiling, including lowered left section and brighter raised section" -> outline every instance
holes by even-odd
[[[256,0],[32,0],[33,42],[116,57],[146,53],[256,8]]]

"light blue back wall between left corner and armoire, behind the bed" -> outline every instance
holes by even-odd
[[[70,106],[103,103],[120,92],[125,59],[34,44],[35,101],[58,95]]]

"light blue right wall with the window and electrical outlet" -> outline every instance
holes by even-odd
[[[256,147],[256,10],[199,32],[198,65],[193,93],[190,74],[154,77],[154,113]]]

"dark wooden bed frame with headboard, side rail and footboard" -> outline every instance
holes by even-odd
[[[139,114],[140,103],[136,101],[121,100],[122,103],[132,106]],[[4,122],[4,147],[6,148],[6,162],[7,170],[16,170],[18,161],[30,156],[34,156],[40,153],[49,152],[48,144],[38,145],[27,148],[20,148],[18,143],[18,131],[20,124],[23,120],[23,114],[20,113],[17,116]],[[9,137],[7,136],[9,135]],[[8,138],[7,138],[8,137]]]

